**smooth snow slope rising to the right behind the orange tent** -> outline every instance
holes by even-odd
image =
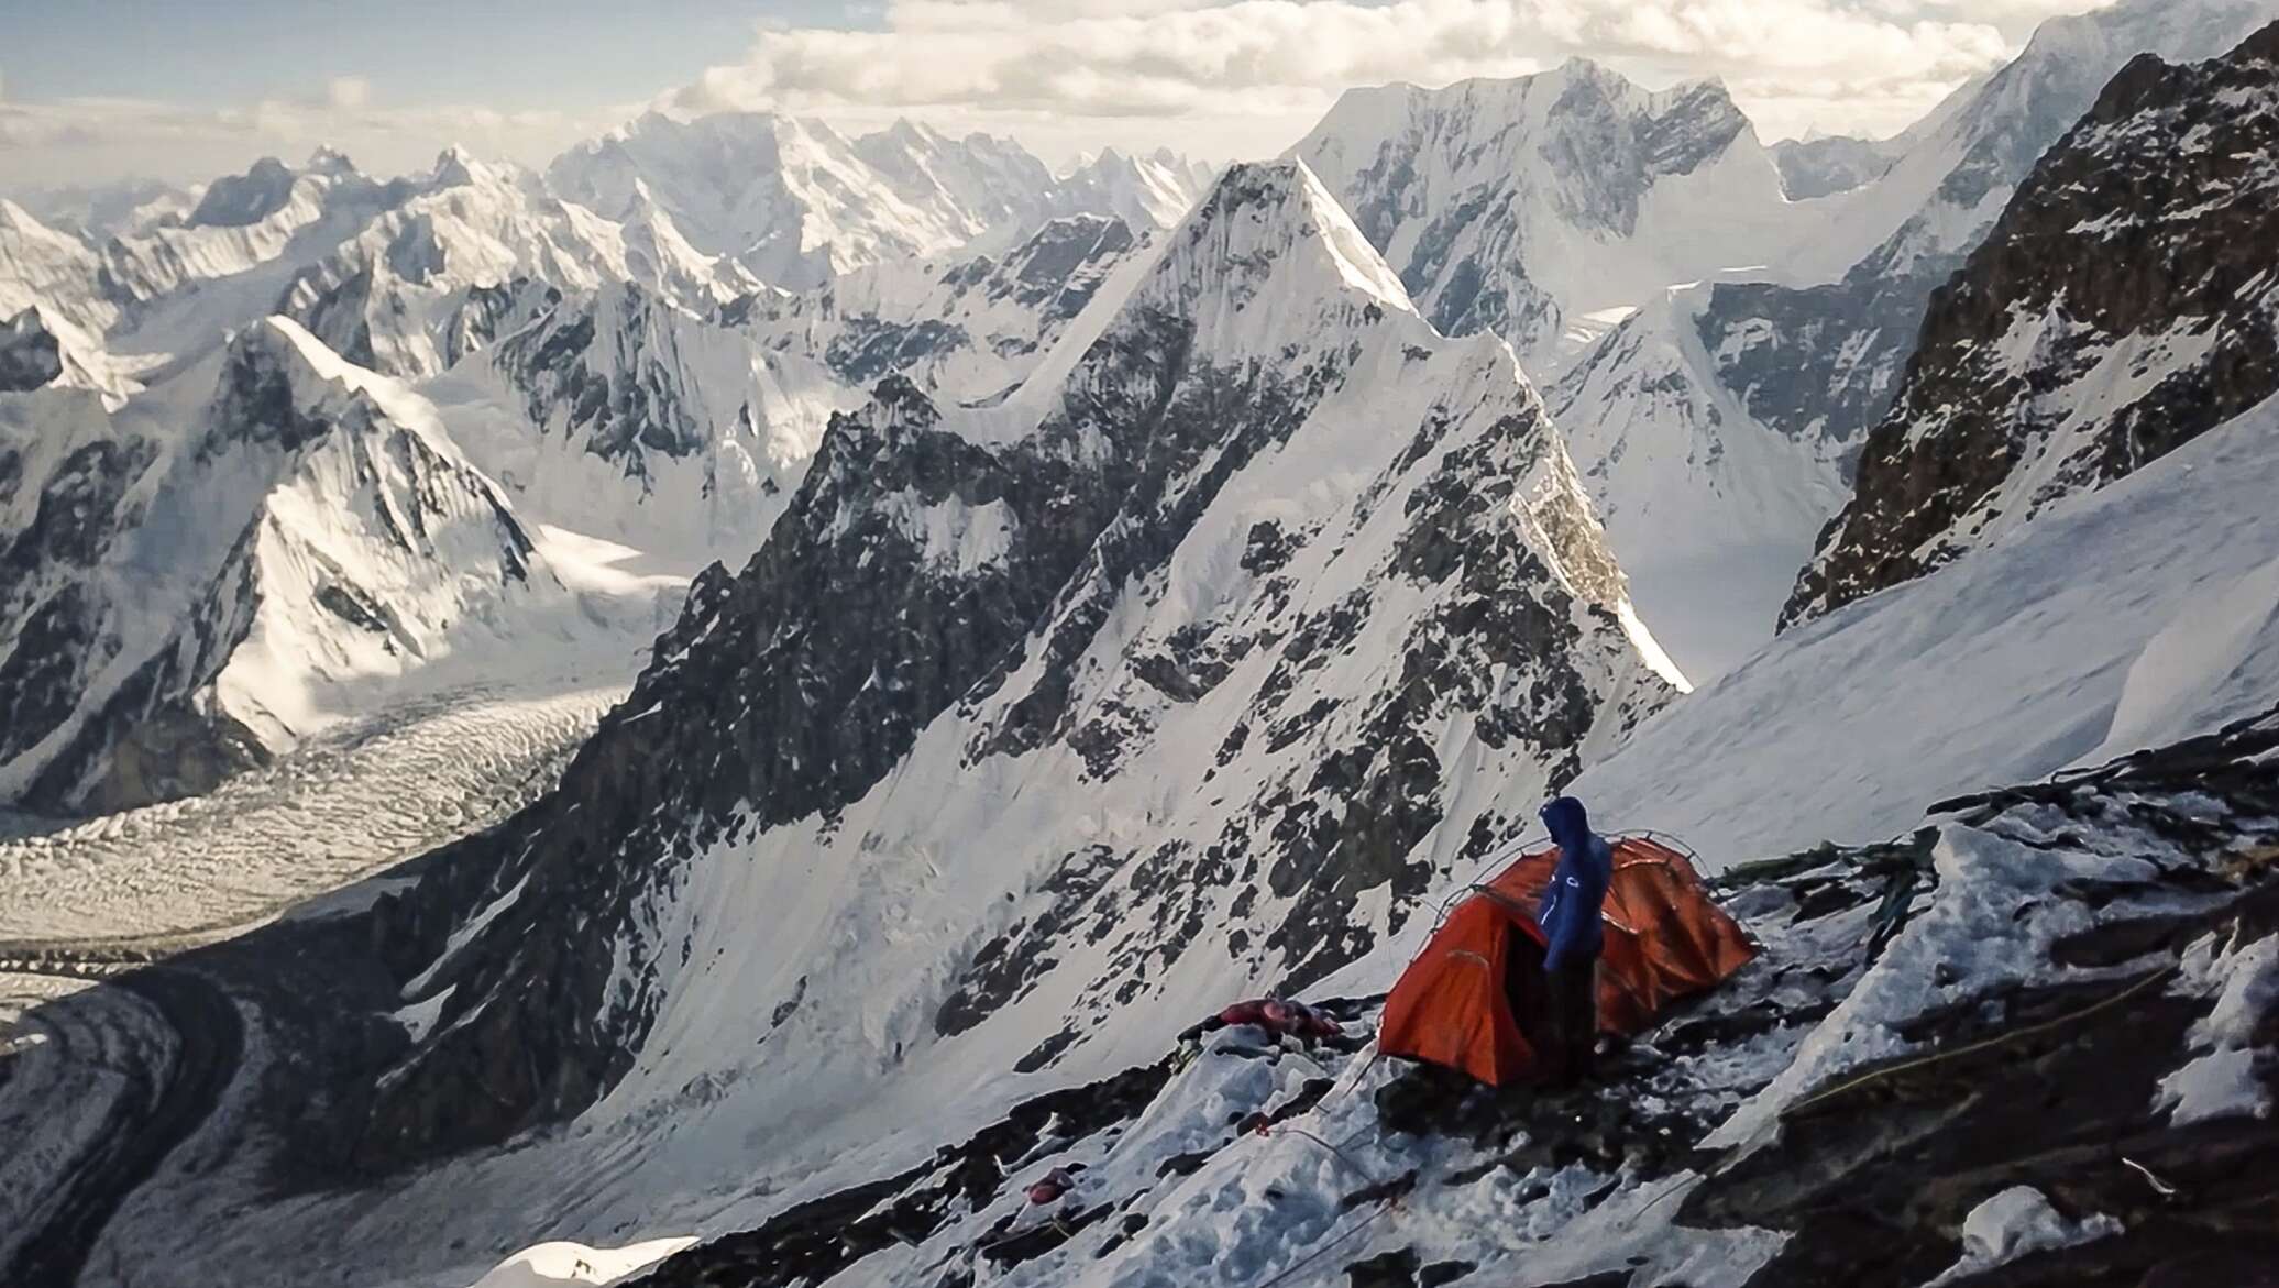
[[[2279,693],[2279,403],[1787,631],[1575,782],[1723,866],[2163,745]]]

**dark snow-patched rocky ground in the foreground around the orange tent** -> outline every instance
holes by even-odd
[[[2265,714],[1723,873],[1759,960],[1609,1040],[1604,1087],[1377,1060],[1374,996],[1326,1040],[1199,1026],[634,1283],[2254,1283],[2274,750]]]

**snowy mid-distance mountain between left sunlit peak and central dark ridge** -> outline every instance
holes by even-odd
[[[859,394],[634,285],[558,294],[426,381],[515,506],[693,572],[768,536],[834,410]]]

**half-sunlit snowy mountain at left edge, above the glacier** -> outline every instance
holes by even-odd
[[[0,394],[5,800],[205,791],[403,677],[599,629],[401,385],[287,319],[203,367],[203,406]]]

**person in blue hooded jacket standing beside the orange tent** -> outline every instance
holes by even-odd
[[[1547,1085],[1573,1087],[1591,1076],[1598,1046],[1598,953],[1604,946],[1600,907],[1614,880],[1614,850],[1591,832],[1582,800],[1561,796],[1543,807],[1543,825],[1559,843],[1559,866],[1543,887],[1536,923],[1550,944],[1543,951]]]

